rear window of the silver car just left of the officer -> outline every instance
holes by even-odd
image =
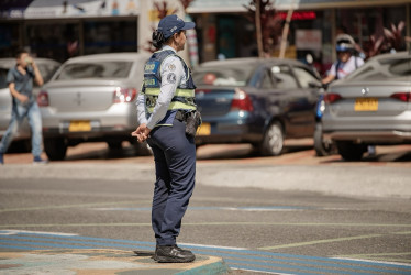
[[[56,79],[126,78],[132,62],[71,63],[63,67]]]

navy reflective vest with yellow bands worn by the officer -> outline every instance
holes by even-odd
[[[191,73],[186,63],[171,50],[155,52],[144,66],[144,81],[142,92],[145,96],[145,111],[147,119],[153,113],[162,87],[160,66],[164,59],[170,55],[177,56],[184,66],[187,82],[179,84],[168,106],[165,118],[157,125],[173,125],[173,120],[178,110],[192,111],[197,109],[195,101],[196,86],[192,81]]]

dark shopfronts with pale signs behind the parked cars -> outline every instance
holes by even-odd
[[[64,62],[71,56],[144,51],[158,22],[156,0],[5,0],[0,3],[0,57],[16,47]],[[184,12],[178,0],[170,10]],[[249,0],[195,0],[187,9],[196,22],[200,62],[257,56],[255,25],[247,19]],[[310,54],[320,72],[335,58],[336,34],[351,34],[363,50],[404,23],[410,36],[410,1],[398,0],[277,0],[281,18],[292,10],[286,56],[304,61]],[[279,45],[279,43],[276,43]],[[406,48],[406,44],[402,45]],[[278,50],[269,55],[278,56]]]

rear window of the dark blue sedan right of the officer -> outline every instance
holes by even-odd
[[[246,86],[254,70],[254,66],[238,66],[221,64],[218,67],[206,66],[192,75],[196,85],[213,86]]]

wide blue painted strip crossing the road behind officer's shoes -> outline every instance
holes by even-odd
[[[53,235],[36,232],[0,231],[0,248],[20,250],[44,250],[45,248],[67,249],[119,249],[149,250],[155,242],[67,235],[53,232]],[[364,260],[343,260],[321,256],[292,255],[268,251],[253,251],[242,248],[226,248],[201,244],[180,244],[195,254],[223,257],[231,268],[275,274],[308,274],[310,272],[329,274],[410,274],[411,265],[384,263]],[[58,253],[58,252],[57,252]],[[1,260],[0,260],[1,264]]]

